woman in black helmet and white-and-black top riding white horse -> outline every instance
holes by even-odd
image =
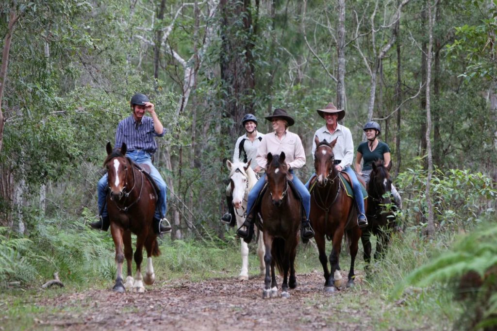
[[[260,175],[264,172],[264,169],[257,165],[255,157],[257,156],[257,148],[264,135],[256,130],[257,118],[252,114],[245,114],[242,119],[242,125],[245,128],[246,133],[237,139],[233,152],[233,162],[247,163],[249,160],[252,160],[252,162],[250,162],[250,167],[256,174]],[[237,221],[235,218],[230,184],[226,187],[226,202],[228,203],[228,212],[223,215],[221,222],[227,223],[233,227]]]

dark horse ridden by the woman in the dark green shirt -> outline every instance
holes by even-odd
[[[395,215],[392,209],[386,206],[392,206],[390,192],[392,191],[392,179],[390,178],[390,168],[392,163],[386,167],[383,160],[373,162],[369,182],[368,182],[368,204],[366,215],[368,226],[362,229],[361,242],[364,248],[364,261],[366,270],[368,270],[371,261],[371,242],[369,237],[375,235],[376,250],[374,258],[377,260],[383,257],[384,249],[390,243],[392,231],[395,227]]]

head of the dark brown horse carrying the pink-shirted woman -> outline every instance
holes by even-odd
[[[290,173],[285,163],[285,153],[281,152],[279,156],[267,153],[266,179],[273,204],[278,207],[288,191],[288,176]]]

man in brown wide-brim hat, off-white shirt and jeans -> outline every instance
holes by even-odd
[[[361,184],[357,180],[354,170],[350,167],[354,158],[354,142],[352,141],[352,133],[346,127],[338,124],[339,120],[345,117],[345,110],[337,109],[333,102],[330,102],[325,108],[318,109],[318,114],[326,121],[325,126],[319,128],[313,136],[312,156],[316,152],[315,137],[321,142],[326,139],[327,142],[332,142],[336,139],[336,144],[333,147],[334,164],[338,171],[345,171],[352,180],[352,189],[354,191],[355,202],[359,210],[357,225],[360,228],[366,227],[368,221],[364,212],[364,196],[362,195]],[[316,174],[311,176],[314,177]],[[306,184],[309,187],[309,180]]]

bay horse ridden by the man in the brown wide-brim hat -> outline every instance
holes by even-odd
[[[347,195],[338,177],[339,171],[333,164],[333,147],[337,139],[328,143],[326,140],[320,142],[315,137],[317,146],[314,153],[316,184],[311,190],[311,213],[309,215],[312,228],[316,233],[314,239],[319,250],[319,260],[323,265],[326,292],[334,292],[341,285],[339,257],[344,234],[350,244],[350,270],[347,287],[354,285],[354,262],[361,238],[361,229],[357,226],[355,202]],[[331,239],[332,243],[331,272],[328,271],[325,236],[328,240]]]

